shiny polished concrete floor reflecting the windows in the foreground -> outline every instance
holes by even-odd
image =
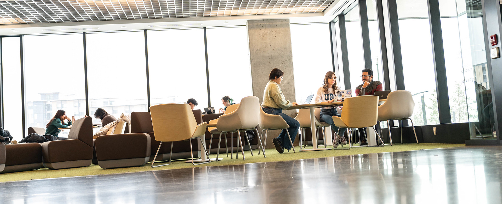
[[[502,147],[459,147],[4,182],[0,203],[502,203],[501,172]]]

